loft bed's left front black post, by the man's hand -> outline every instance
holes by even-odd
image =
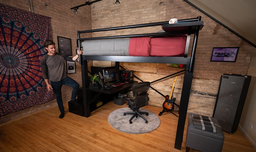
[[[81,50],[81,44],[80,44],[80,33],[78,33],[78,51]],[[88,88],[89,84],[89,78],[88,78],[88,64],[83,60],[83,56],[79,55],[79,64],[81,65],[81,73],[82,73],[82,85],[83,85],[83,105],[84,105],[84,117],[88,118],[90,117],[90,103],[88,103],[88,91],[85,88]]]

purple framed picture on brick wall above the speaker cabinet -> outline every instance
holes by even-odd
[[[211,61],[236,62],[239,47],[213,48]]]

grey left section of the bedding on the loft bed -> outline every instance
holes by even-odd
[[[129,56],[130,39],[84,41],[83,55]]]

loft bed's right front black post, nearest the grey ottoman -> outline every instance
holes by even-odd
[[[201,21],[200,16],[198,16],[197,18],[198,18],[198,21]],[[196,27],[196,33],[194,35],[191,58],[187,60],[186,71],[185,71],[184,81],[182,86],[182,94],[180,97],[179,119],[178,119],[175,145],[174,145],[174,148],[179,150],[182,147],[183,134],[184,134],[188,103],[189,103],[189,96],[191,91],[193,75],[194,75],[193,69],[194,69],[194,62],[195,62],[195,51],[196,51],[196,45],[198,40],[198,33],[199,33],[199,26]]]

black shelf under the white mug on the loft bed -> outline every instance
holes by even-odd
[[[204,21],[197,22],[185,22],[185,23],[175,23],[175,24],[164,24],[162,29],[166,32],[186,32],[186,33],[195,33],[196,27],[199,26],[199,30],[204,27]]]

